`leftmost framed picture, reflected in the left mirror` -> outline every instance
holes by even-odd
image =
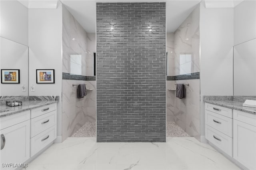
[[[20,83],[19,69],[1,69],[1,83]]]

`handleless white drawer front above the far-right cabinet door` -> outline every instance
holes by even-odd
[[[234,110],[233,113],[234,119],[252,126],[256,126],[256,115],[237,110]]]

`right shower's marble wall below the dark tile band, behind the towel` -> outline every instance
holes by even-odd
[[[186,86],[186,98],[176,98],[175,83]],[[175,122],[187,134],[200,139],[200,80],[166,81],[166,115],[167,122]]]

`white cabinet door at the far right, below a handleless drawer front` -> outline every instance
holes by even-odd
[[[250,170],[256,169],[256,127],[233,120],[234,158]]]

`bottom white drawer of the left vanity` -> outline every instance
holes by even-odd
[[[30,157],[42,150],[56,139],[56,125],[30,139]]]

